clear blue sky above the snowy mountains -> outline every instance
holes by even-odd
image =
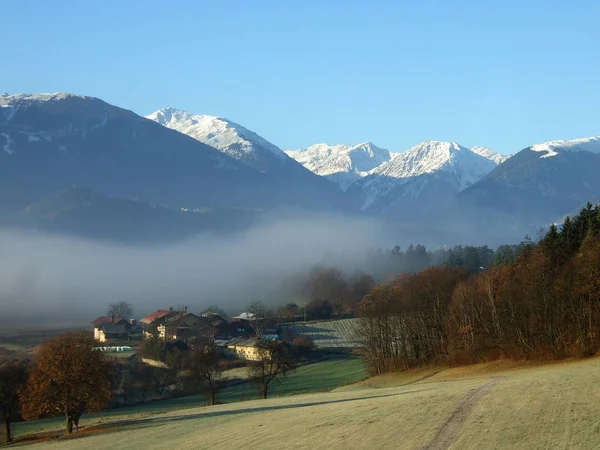
[[[227,117],[282,148],[600,135],[600,2],[0,2],[0,92]]]

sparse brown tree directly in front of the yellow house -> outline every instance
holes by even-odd
[[[248,366],[250,380],[258,385],[264,399],[269,393],[269,385],[285,377],[297,366],[290,347],[281,341],[258,339],[256,342],[258,359]]]

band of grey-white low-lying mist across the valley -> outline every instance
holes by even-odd
[[[121,300],[138,318],[178,305],[196,313],[209,305],[239,313],[255,300],[275,306],[293,300],[286,280],[314,264],[359,270],[369,249],[393,243],[381,222],[334,216],[287,217],[234,236],[143,248],[4,230],[0,323],[89,324]]]

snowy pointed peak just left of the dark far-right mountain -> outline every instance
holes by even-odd
[[[455,142],[425,141],[373,170],[352,186],[361,191],[361,208],[367,209],[394,191],[398,197],[417,199],[434,179],[443,183],[435,188],[454,194],[472,185],[491,172],[497,163]],[[400,189],[400,191],[397,191]],[[451,192],[450,192],[451,191]]]

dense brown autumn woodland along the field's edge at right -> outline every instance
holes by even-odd
[[[358,339],[373,373],[424,364],[564,358],[600,349],[600,208],[471,271],[429,267],[375,286]],[[498,255],[498,252],[495,253]],[[493,259],[492,259],[493,261]]]

